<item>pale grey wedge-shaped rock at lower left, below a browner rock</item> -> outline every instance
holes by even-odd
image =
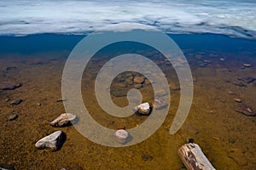
[[[35,146],[38,149],[49,148],[51,150],[58,150],[61,147],[65,134],[62,131],[51,133],[43,139],[38,140]]]

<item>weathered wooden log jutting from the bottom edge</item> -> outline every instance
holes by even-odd
[[[183,144],[177,150],[178,156],[188,170],[214,170],[211,162],[195,143]]]

